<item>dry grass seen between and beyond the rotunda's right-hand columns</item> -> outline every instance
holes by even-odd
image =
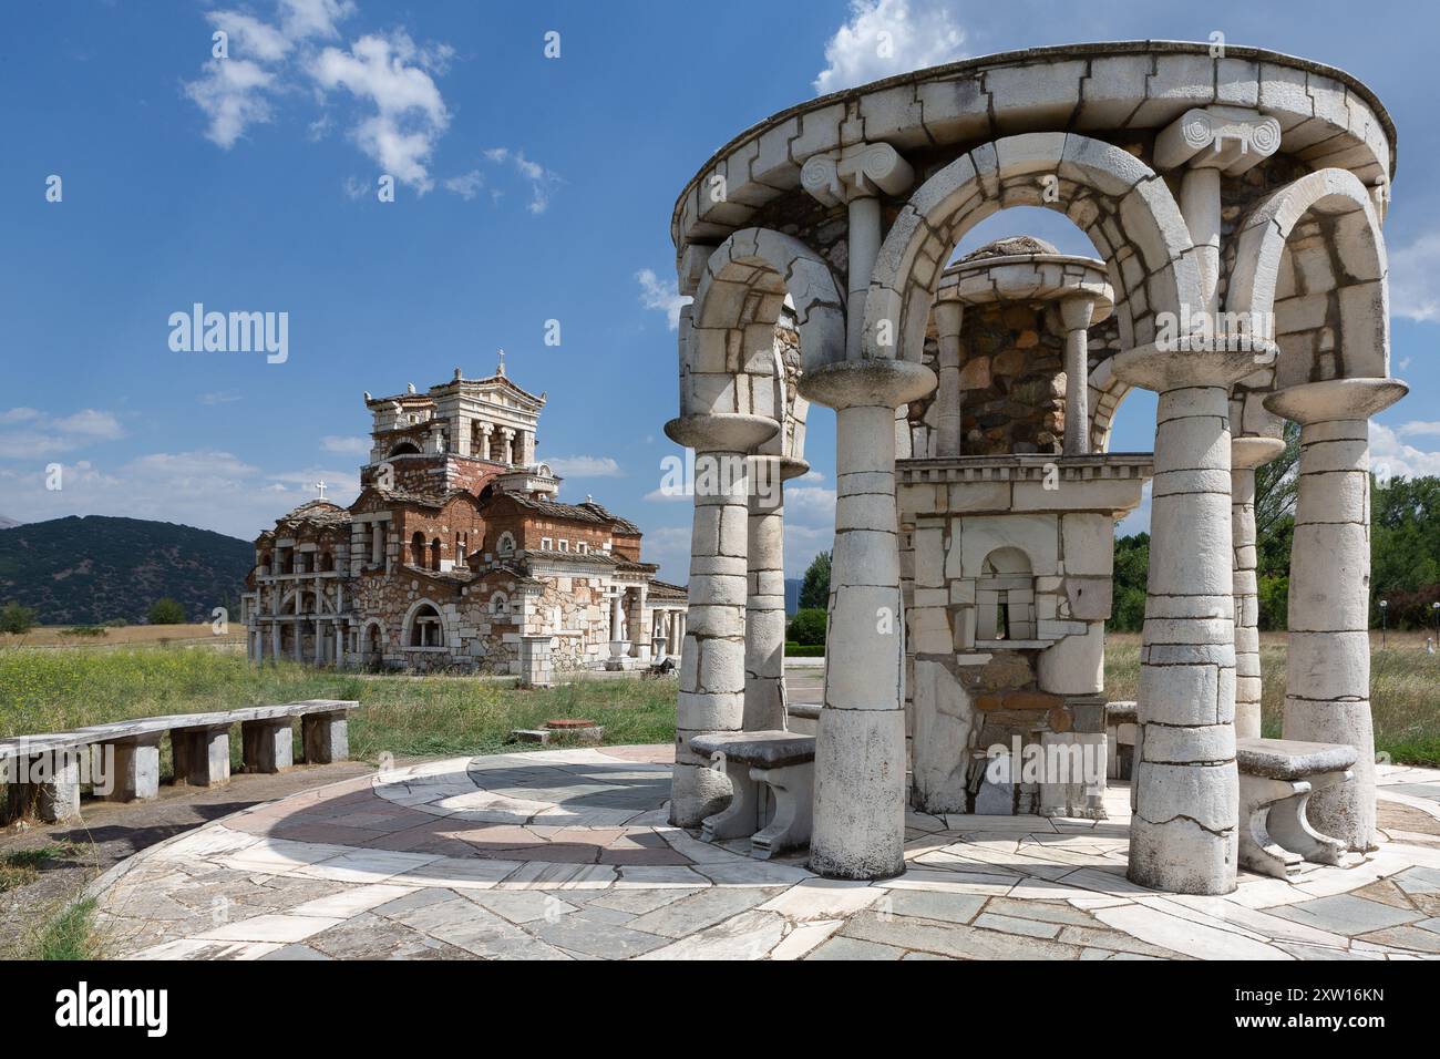
[[[1371,635],[1369,703],[1375,749],[1397,762],[1440,767],[1440,654],[1426,654],[1424,633]],[[1284,633],[1260,635],[1261,726],[1280,735],[1284,709]],[[1106,638],[1104,686],[1112,700],[1135,699],[1140,684],[1140,637]]]

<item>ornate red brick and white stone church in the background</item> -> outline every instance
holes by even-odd
[[[641,560],[641,532],[557,499],[537,463],[546,396],[455,377],[366,396],[370,461],[348,507],[311,500],[255,540],[242,617],[252,661],[523,673],[678,657],[685,591]]]

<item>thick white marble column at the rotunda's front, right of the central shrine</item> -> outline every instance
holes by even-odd
[[[1148,346],[1116,375],[1159,393],[1140,641],[1129,877],[1171,893],[1236,888],[1236,621],[1230,386],[1253,353]]]

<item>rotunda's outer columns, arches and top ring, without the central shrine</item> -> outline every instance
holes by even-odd
[[[1240,50],[1217,58],[1202,45],[1079,45],[901,75],[760,122],[721,148],[677,203],[681,292],[696,294],[696,333],[714,327],[704,317],[727,311],[739,321],[727,326],[743,331],[760,316],[747,317],[740,305],[778,294],[773,284],[762,290],[740,275],[698,288],[687,282],[697,271],[719,277],[716,241],[732,232],[747,245],[783,242],[793,249],[788,264],[769,264],[804,303],[801,392],[837,409],[829,650],[811,843],[819,873],[873,879],[903,870],[894,412],[936,385],[920,362],[939,275],[955,246],[979,219],[1017,205],[1060,210],[1084,229],[1116,288],[1123,352],[1112,359],[1113,375],[1159,395],[1130,877],[1205,895],[1236,886],[1237,673],[1246,677],[1243,725],[1251,730],[1250,483],[1264,448],[1231,439],[1231,388],[1241,379],[1251,390],[1279,388],[1266,406],[1303,429],[1284,733],[1359,749],[1356,782],[1316,798],[1313,820],[1352,847],[1368,844],[1365,419],[1404,392],[1384,377],[1384,251],[1368,205],[1372,189],[1388,187],[1391,125],[1374,95],[1336,71]],[[1138,65],[1146,71],[1139,79]],[[1302,82],[1303,92],[1293,91]],[[1320,107],[1322,98],[1335,105]],[[1077,133],[1077,115],[1081,127],[1106,131],[1097,138]],[[995,138],[996,130],[1005,134]],[[1112,133],[1143,147],[1120,150]],[[900,156],[920,144],[924,151],[914,158]],[[952,148],[948,157],[943,148]],[[1264,180],[1243,179],[1282,151],[1283,164],[1266,174],[1277,193]],[[912,192],[916,158],[930,161]],[[720,199],[717,180],[726,187]],[[816,212],[806,195],[825,209]],[[1223,196],[1243,213],[1236,246],[1224,238]],[[1305,248],[1287,241],[1302,219],[1306,239],[1297,242],[1326,243],[1325,255],[1341,265],[1322,262],[1328,287],[1322,268],[1297,278]],[[832,252],[835,231],[844,233],[842,254]],[[824,246],[827,258],[805,239]],[[821,269],[825,259],[844,261],[848,269],[824,301],[844,308],[842,341],[806,340],[819,280],[792,265],[811,259]],[[1064,321],[1066,366],[1077,375],[1079,308]],[[1237,333],[1221,326],[1221,308],[1261,324]],[[935,321],[949,388],[959,327],[952,310]],[[1197,323],[1201,333],[1192,334]],[[683,323],[677,424],[747,418],[747,341],[727,347],[713,336],[696,343]],[[1280,367],[1253,380],[1277,352]],[[1080,428],[1086,389],[1074,390],[1067,418]],[[940,409],[942,454],[956,445],[959,411],[953,403]],[[1090,426],[1067,437],[1067,452],[1084,451],[1086,438],[1096,437]],[[671,437],[691,438],[697,455],[736,458],[763,439],[708,429]],[[744,510],[737,493],[696,499],[691,633],[701,650],[687,658],[681,683],[674,823],[696,823],[727,794],[723,781],[696,778],[701,762],[685,756],[685,733],[743,723],[744,552],[727,550],[726,540],[739,540]]]

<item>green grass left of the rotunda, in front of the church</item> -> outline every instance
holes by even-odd
[[[675,732],[675,682],[579,680],[521,692],[459,676],[354,674],[295,663],[255,669],[243,656],[186,648],[0,651],[0,736],[62,732],[124,718],[225,710],[298,699],[356,699],[353,756],[534,749],[511,729],[550,718],[605,726],[606,743],[664,742]],[[239,739],[232,739],[239,754]]]

